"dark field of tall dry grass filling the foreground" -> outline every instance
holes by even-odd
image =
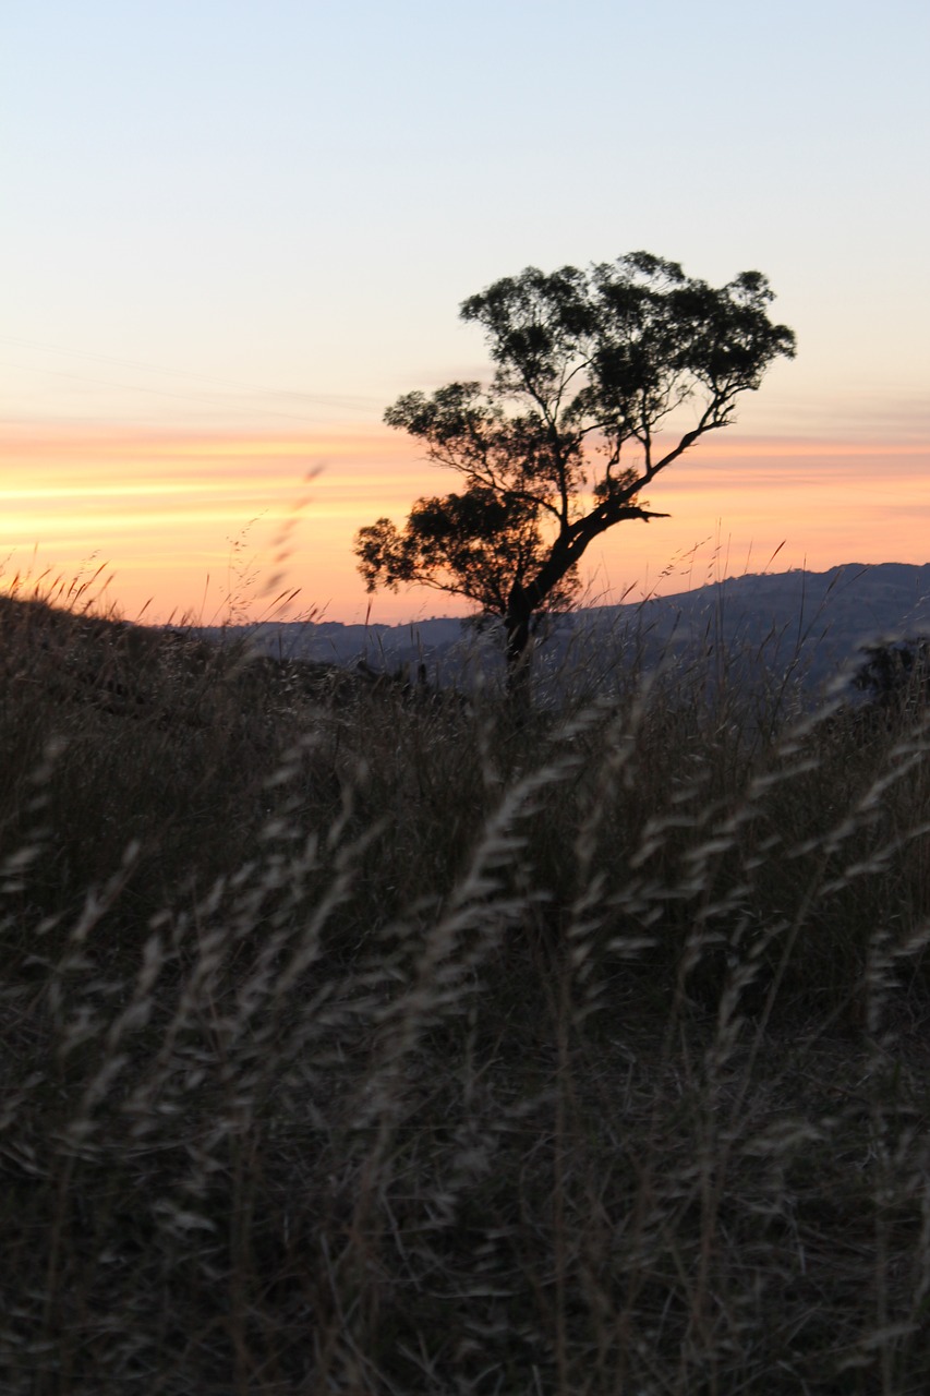
[[[4,1396],[927,1389],[926,712],[0,639]]]

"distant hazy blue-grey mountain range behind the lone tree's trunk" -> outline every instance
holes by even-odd
[[[647,666],[716,652],[751,656],[769,671],[797,670],[822,687],[876,638],[930,634],[930,564],[848,563],[827,572],[795,570],[726,578],[676,596],[581,609],[549,623],[536,669],[589,678],[609,674],[631,653]],[[339,621],[260,623],[200,628],[204,638],[249,635],[261,653],[374,669],[426,666],[436,681],[461,681],[500,667],[500,646],[455,618],[408,625]]]

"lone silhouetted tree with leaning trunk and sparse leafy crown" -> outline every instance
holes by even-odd
[[[503,624],[510,688],[525,692],[535,627],[573,604],[588,544],[624,519],[667,518],[640,501],[644,486],[729,426],[774,359],[793,357],[771,300],[760,272],[714,289],[649,253],[528,267],[471,296],[461,317],[485,329],[490,387],[408,392],[384,413],[464,487],[418,500],[404,529],[380,518],[359,530],[367,589],[468,597]],[[690,426],[672,431],[680,409]]]

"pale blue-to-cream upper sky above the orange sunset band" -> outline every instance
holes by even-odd
[[[711,281],[771,278],[800,355],[747,406],[760,427],[919,413],[929,17],[8,3],[4,410],[377,420],[482,367],[464,296],[647,247]]]

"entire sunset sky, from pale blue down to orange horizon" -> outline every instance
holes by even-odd
[[[586,597],[930,560],[926,0],[7,0],[0,586],[397,623],[352,539],[455,487],[381,422],[469,295],[647,248],[797,334]]]

